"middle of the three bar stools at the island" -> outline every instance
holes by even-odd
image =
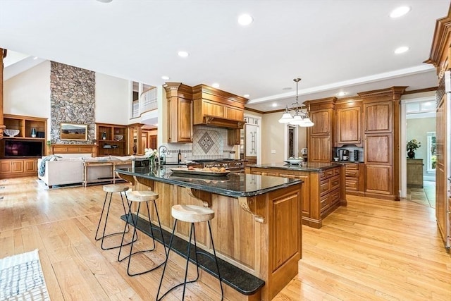
[[[132,235],[132,243],[130,245],[130,252],[127,256],[123,257],[121,259],[121,252],[122,252],[122,247],[123,245],[123,241],[124,241],[124,237],[125,237],[125,228],[123,231],[123,235],[122,235],[122,242],[121,242],[121,246],[119,248],[119,254],[118,254],[118,261],[122,262],[124,259],[128,258],[128,264],[127,264],[127,274],[128,276],[137,276],[137,275],[142,275],[145,273],[148,273],[149,271],[153,271],[154,269],[159,268],[160,266],[162,266],[164,264],[164,262],[161,262],[161,264],[159,264],[158,266],[154,266],[152,269],[149,269],[147,271],[140,271],[139,273],[130,273],[130,262],[132,259],[132,255],[138,254],[138,253],[142,253],[142,252],[151,252],[153,250],[155,250],[156,248],[156,244],[155,244],[155,236],[154,236],[154,228],[157,228],[155,226],[152,226],[152,219],[150,217],[150,210],[149,210],[149,202],[153,202],[154,203],[154,208],[155,208],[155,213],[156,213],[156,219],[158,220],[158,229],[160,231],[161,234],[161,240],[163,241],[163,247],[165,248],[164,250],[164,254],[167,257],[166,254],[166,245],[164,243],[164,237],[163,237],[163,230],[161,229],[161,223],[160,223],[160,216],[158,214],[158,209],[156,208],[156,202],[155,200],[158,199],[159,195],[156,192],[153,191],[132,191],[128,194],[128,200],[130,201],[130,206],[128,207],[128,218],[130,217],[132,219],[132,225],[134,227],[133,230],[133,235]],[[135,242],[137,240],[137,232],[136,232],[136,228],[137,228],[137,222],[138,222],[138,216],[136,215],[135,218],[133,218],[133,214],[132,214],[132,203],[135,202],[137,203],[137,212],[140,212],[140,208],[141,208],[141,203],[145,202],[146,206],[147,206],[147,216],[149,216],[149,228],[150,228],[150,232],[152,234],[152,242],[154,244],[154,246],[152,247],[152,249],[149,250],[142,250],[142,251],[136,251],[133,252],[133,242]],[[128,222],[128,219],[127,219]]]

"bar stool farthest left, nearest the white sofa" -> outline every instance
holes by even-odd
[[[109,217],[109,212],[110,212],[110,207],[111,207],[111,199],[113,197],[114,192],[119,192],[119,194],[121,195],[122,207],[124,209],[124,214],[127,215],[127,211],[125,209],[125,203],[124,203],[124,199],[123,199],[123,195],[122,195],[122,192],[123,192],[125,195],[125,199],[127,200],[127,206],[129,206],[128,199],[127,199],[127,193],[126,193],[127,190],[128,190],[128,186],[123,185],[123,184],[104,185],[104,192],[106,192],[105,199],[104,199],[104,207],[102,207],[102,209],[101,209],[99,224],[97,225],[97,231],[96,231],[96,236],[95,236],[95,240],[101,240],[101,249],[102,250],[116,249],[117,247],[121,247],[121,245],[122,245],[122,242],[121,242],[121,245],[115,245],[113,247],[104,247],[104,238],[107,238],[107,237],[113,236],[113,235],[123,234],[123,231],[122,231],[122,232],[110,233],[110,234],[105,235],[105,230],[106,230],[106,223],[108,222],[108,217]],[[107,202],[108,202],[108,207],[106,208]],[[104,216],[104,214],[105,214],[105,216]],[[100,228],[101,220],[103,217],[105,217],[105,222],[103,224],[104,229],[101,233],[101,236],[97,237],[97,235],[99,234],[99,228]],[[128,232],[129,229],[128,229],[127,223],[125,223],[125,226],[126,226],[126,229]]]

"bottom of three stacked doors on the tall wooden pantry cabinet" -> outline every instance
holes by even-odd
[[[391,195],[393,191],[392,166],[366,164],[365,192]]]

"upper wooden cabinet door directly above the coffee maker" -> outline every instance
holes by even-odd
[[[337,109],[337,147],[343,145],[362,146],[362,107]]]

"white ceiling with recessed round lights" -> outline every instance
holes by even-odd
[[[294,78],[302,78],[299,103],[394,85],[419,90],[437,85],[423,62],[435,20],[450,7],[450,0],[104,1],[1,0],[0,47],[27,54],[6,66],[5,79],[51,60],[147,85],[218,82],[249,94],[247,107],[259,111],[290,106]],[[411,11],[390,18],[402,5]],[[237,24],[242,13],[254,22]],[[400,46],[409,51],[394,54]],[[179,57],[181,50],[190,55]]]

